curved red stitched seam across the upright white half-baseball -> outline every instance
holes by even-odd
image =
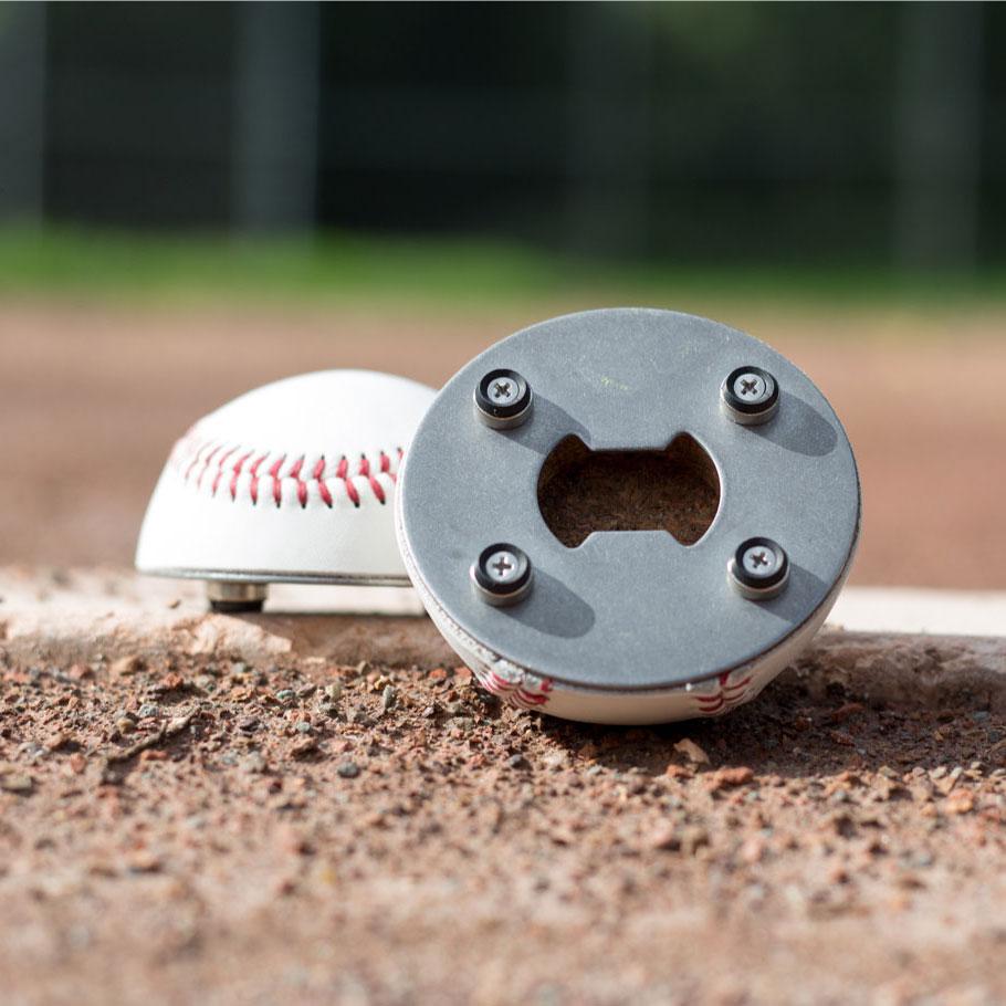
[[[240,457],[238,457],[239,452]],[[318,458],[310,473],[304,471],[307,455],[301,454],[290,465],[286,473],[281,474],[284,464],[286,464],[286,459],[291,457],[283,454],[269,465],[268,471],[260,473],[259,469],[269,460],[271,452],[260,453],[252,461],[255,454],[254,449],[244,448],[240,444],[228,447],[213,440],[200,440],[198,436],[189,431],[175,444],[171,460],[181,474],[184,482],[190,482],[195,476],[195,483],[198,489],[202,486],[205,480],[211,478],[210,494],[216,496],[221,485],[226,485],[232,501],[238,500],[241,475],[244,471],[248,471],[250,476],[249,496],[252,504],[255,505],[259,502],[259,483],[261,479],[269,478],[272,480],[271,495],[276,506],[283,504],[283,479],[293,479],[297,488],[297,503],[300,503],[302,509],[305,509],[311,501],[308,483],[312,482],[317,485],[318,496],[322,502],[329,507],[334,505],[332,489],[328,485],[328,481],[333,478],[342,480],[346,486],[346,495],[354,506],[359,506],[361,502],[359,490],[354,481],[360,478],[367,480],[374,499],[380,504],[386,504],[388,502],[388,491],[378,476],[384,475],[390,479],[391,482],[398,481],[397,473],[391,471],[392,457],[396,453],[400,464],[405,455],[401,448],[395,448],[394,451],[380,450],[373,462],[366,454],[360,454],[359,462],[354,465],[356,468],[355,473],[350,473],[349,461],[343,455],[336,465],[335,474],[329,474],[327,478],[325,476],[324,454]],[[249,464],[249,462],[251,463]]]

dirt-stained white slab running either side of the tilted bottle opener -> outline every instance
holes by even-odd
[[[214,615],[198,583],[115,569],[0,570],[0,641],[21,664],[91,664],[122,657],[211,656],[252,664],[308,658],[336,664],[453,667],[457,656],[420,611],[411,590],[277,588],[261,615]],[[888,599],[890,598],[890,604]],[[849,590],[836,620],[787,675],[811,691],[840,683],[878,702],[940,703],[966,698],[1006,706],[1006,638],[991,630],[997,595]],[[411,614],[410,614],[411,612]],[[954,612],[960,617],[954,618]],[[904,625],[913,631],[897,631]],[[935,625],[923,635],[919,626]],[[860,627],[878,629],[856,631]]]

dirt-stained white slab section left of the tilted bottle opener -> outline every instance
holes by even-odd
[[[201,581],[8,567],[0,568],[0,642],[22,662],[170,652],[252,663],[324,657],[426,667],[453,659],[409,588],[281,585],[262,615],[214,615]]]

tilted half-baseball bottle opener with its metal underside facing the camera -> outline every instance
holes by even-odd
[[[459,371],[416,432],[396,526],[485,688],[656,723],[726,712],[793,661],[849,572],[860,489],[835,412],[780,354],[619,308],[534,325]]]

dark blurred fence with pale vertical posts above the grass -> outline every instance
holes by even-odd
[[[1006,8],[6,4],[0,214],[1006,258]]]

